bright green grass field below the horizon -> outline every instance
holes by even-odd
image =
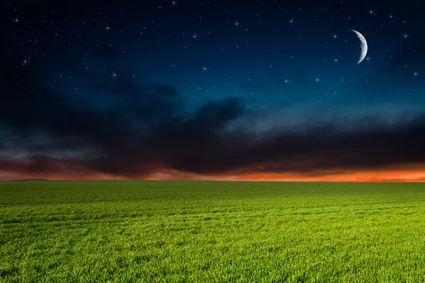
[[[425,183],[0,183],[0,282],[424,282]]]

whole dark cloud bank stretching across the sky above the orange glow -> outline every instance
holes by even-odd
[[[126,83],[131,85],[130,81]],[[425,116],[373,131],[343,132],[330,123],[298,134],[280,132],[258,137],[225,131],[226,125],[246,115],[243,100],[210,102],[184,114],[184,101],[174,88],[156,84],[132,87],[132,94],[124,95],[125,103],[108,110],[81,110],[47,89],[42,100],[11,100],[1,109],[3,125],[19,129],[22,135],[32,129],[49,132],[55,140],[51,150],[95,144],[101,156],[12,158],[7,157],[6,149],[0,168],[30,175],[96,172],[141,178],[160,168],[201,174],[254,171],[320,175],[425,161],[421,150]],[[357,123],[354,128],[363,129],[378,122],[370,117]]]

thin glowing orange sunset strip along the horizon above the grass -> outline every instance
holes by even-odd
[[[228,180],[228,181],[311,181],[311,182],[424,182],[425,164],[405,164],[377,170],[329,170],[308,173],[278,173],[255,169],[236,170],[216,175],[203,175],[177,171],[157,166],[148,174],[130,178],[120,175],[99,173],[71,164],[49,166],[44,171],[31,171],[20,163],[0,166],[0,180],[23,178],[47,178],[52,180]]]

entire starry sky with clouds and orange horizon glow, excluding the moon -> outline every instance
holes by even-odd
[[[1,1],[0,180],[425,180],[424,8]]]

